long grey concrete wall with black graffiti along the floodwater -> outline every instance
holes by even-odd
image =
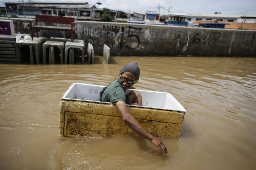
[[[29,34],[29,28],[22,27],[27,20],[12,20],[15,31]],[[96,54],[103,54],[106,44],[112,56],[256,56],[256,31],[88,21],[76,21],[75,27],[75,38],[90,42]],[[40,31],[39,35],[70,37],[64,32],[51,31]]]

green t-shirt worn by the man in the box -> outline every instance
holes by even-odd
[[[119,78],[116,78],[104,91],[102,94],[102,102],[115,103],[117,101],[125,102],[125,92],[121,84],[119,83]],[[100,95],[97,97],[96,101],[100,101]]]

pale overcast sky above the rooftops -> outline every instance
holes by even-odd
[[[0,0],[0,2],[13,2],[18,0]],[[20,0],[22,1],[22,0]],[[27,0],[28,1],[28,0]],[[32,2],[88,2],[96,4],[99,0],[31,0]],[[173,13],[201,13],[213,14],[247,14],[256,15],[256,0],[100,0],[100,8],[106,7],[124,12],[136,11],[159,11],[168,14]],[[96,4],[98,8],[98,5]],[[165,8],[166,10],[164,10]]]

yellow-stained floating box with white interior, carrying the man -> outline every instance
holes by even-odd
[[[81,83],[70,86],[60,103],[60,136],[138,135],[123,121],[115,104],[95,101],[103,87]],[[137,91],[143,106],[127,107],[140,125],[154,136],[179,137],[186,112],[182,105],[169,93]]]

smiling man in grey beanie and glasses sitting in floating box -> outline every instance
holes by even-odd
[[[140,68],[136,62],[126,64],[119,73],[120,78],[115,79],[111,84],[105,87],[100,96],[96,99],[102,102],[115,103],[120,111],[124,122],[136,133],[148,139],[153,145],[158,147],[160,153],[167,155],[167,149],[163,142],[155,136],[148,133],[139,122],[129,113],[126,104],[142,106],[141,94],[133,90],[127,96],[127,89],[135,89],[133,86],[138,82],[140,76]]]

